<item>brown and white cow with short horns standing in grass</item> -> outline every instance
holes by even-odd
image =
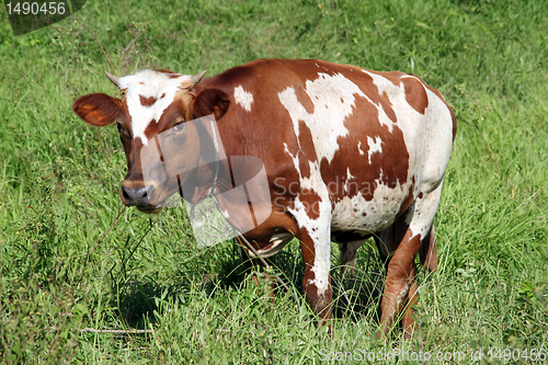
[[[195,196],[185,199],[203,198],[214,184],[233,187],[230,174],[218,178],[218,166],[201,164],[210,132],[187,123],[213,114],[226,155],[256,157],[266,170],[272,212],[243,233],[256,252],[269,256],[293,237],[300,240],[306,300],[324,323],[331,241],[341,248],[341,263],[352,265],[359,246],[375,237],[387,263],[379,335],[402,310],[406,333],[412,332],[414,260],[420,254],[426,267],[437,266],[433,221],[456,133],[455,115],[436,90],[412,75],[321,60],[261,59],[204,80],[204,72],[165,70],[107,76],[122,99],[90,94],[73,110],[94,126],[117,122],[128,167],[124,204],[156,213],[190,181]],[[144,181],[141,149],[173,127],[184,129],[184,144],[170,158],[192,173]],[[230,209],[233,226],[239,209],[249,212],[218,204]]]

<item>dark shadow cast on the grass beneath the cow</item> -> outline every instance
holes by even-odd
[[[238,250],[235,244],[235,252]],[[198,259],[204,260],[207,259]],[[292,246],[270,259],[274,274],[279,275],[284,283],[302,297],[304,263],[300,249]],[[159,284],[149,281],[118,283],[113,287],[114,294],[111,307],[115,308],[121,319],[130,328],[145,329],[147,323],[155,322],[155,311],[158,311],[157,298],[175,300],[187,298],[196,292],[207,296],[233,295],[230,288],[243,290],[255,270],[246,271],[238,254],[225,258],[216,265],[216,273],[181,273],[171,281],[172,284]],[[364,244],[358,251],[355,269],[352,275],[342,274],[341,266],[331,271],[333,287],[333,317],[358,322],[363,318],[380,319],[380,298],[384,289],[385,270],[378,260],[375,249]],[[285,295],[286,288],[273,282],[275,296]],[[186,301],[186,300],[185,300]],[[295,301],[295,300],[294,300]],[[295,304],[297,305],[297,304]]]

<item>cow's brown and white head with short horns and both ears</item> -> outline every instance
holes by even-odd
[[[209,132],[191,121],[208,114],[220,118],[228,109],[227,96],[218,90],[215,95],[210,90],[196,94],[205,71],[184,76],[141,70],[123,78],[105,73],[122,90],[121,99],[89,94],[72,109],[93,126],[116,122],[127,160],[122,201],[141,212],[157,213],[184,184],[197,184],[201,145]]]

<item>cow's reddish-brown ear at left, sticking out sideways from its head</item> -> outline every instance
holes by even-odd
[[[72,110],[84,122],[102,127],[118,118],[121,105],[122,101],[107,94],[89,94],[78,99]]]

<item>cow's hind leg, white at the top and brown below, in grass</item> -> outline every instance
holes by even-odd
[[[395,320],[401,313],[402,326],[407,338],[414,331],[413,305],[416,303],[418,285],[415,282],[416,266],[414,259],[421,247],[426,248],[424,261],[433,266],[435,246],[433,246],[433,220],[439,204],[442,185],[434,191],[423,194],[399,217],[391,227],[387,228],[377,240],[381,255],[386,255],[387,277],[381,301],[380,330],[377,338],[386,335]],[[391,255],[391,253],[393,254]],[[391,256],[390,256],[391,255]],[[437,258],[435,258],[437,262]]]

